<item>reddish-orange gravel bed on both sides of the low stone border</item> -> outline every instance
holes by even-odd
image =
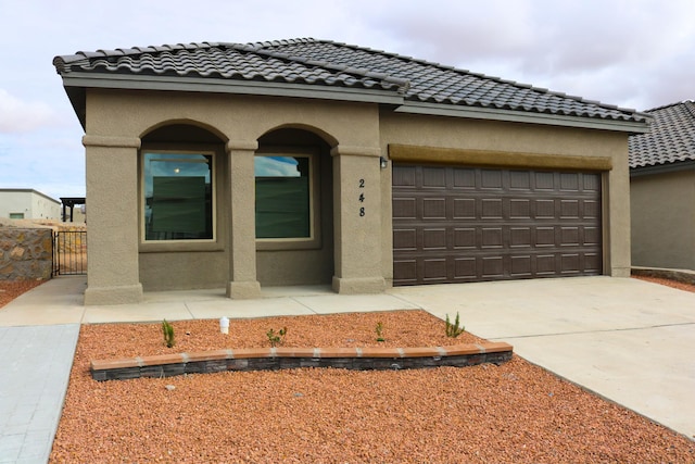
[[[173,324],[172,349],[160,324],[81,327],[51,463],[695,461],[695,442],[518,356],[465,368],[90,378],[92,359],[267,347],[270,328],[287,327],[289,347],[452,344],[421,311],[232,319],[228,336],[217,321]]]

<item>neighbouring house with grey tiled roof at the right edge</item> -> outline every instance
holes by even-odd
[[[695,102],[646,113],[652,130],[630,137],[632,263],[695,271]]]

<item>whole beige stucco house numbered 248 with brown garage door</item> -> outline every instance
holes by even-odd
[[[630,275],[633,110],[314,39],[53,64],[86,131],[86,304]]]

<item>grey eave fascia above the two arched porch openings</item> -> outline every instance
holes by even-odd
[[[63,86],[66,88],[66,90],[67,88],[168,90],[205,93],[313,98],[366,103],[403,103],[403,96],[400,95],[396,90],[181,76],[114,76],[90,73],[71,73],[70,75],[63,75]]]

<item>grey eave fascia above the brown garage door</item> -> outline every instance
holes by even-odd
[[[630,134],[644,134],[649,130],[649,125],[646,122],[567,116],[561,114],[521,112],[501,110],[496,108],[462,106],[444,103],[437,104],[406,101],[394,111],[399,113],[427,114],[435,116],[470,117],[476,120],[504,121],[511,123],[581,127],[587,129],[624,131]]]

